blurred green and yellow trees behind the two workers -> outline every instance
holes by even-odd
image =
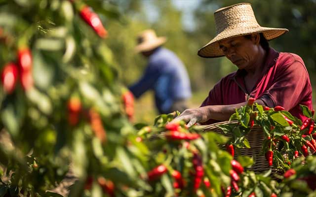
[[[190,75],[193,98],[190,107],[197,107],[213,85],[236,70],[226,58],[203,59],[197,50],[215,35],[214,11],[240,2],[250,2],[261,26],[287,28],[289,32],[270,41],[277,51],[300,55],[316,86],[316,1],[315,0],[112,0],[123,17],[107,21],[108,45],[120,66],[120,78],[125,85],[142,74],[146,61],[133,51],[136,36],[147,28],[158,36],[166,36],[165,47],[184,62]],[[136,103],[136,121],[150,123],[157,115],[151,93]]]

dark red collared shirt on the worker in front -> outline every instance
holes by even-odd
[[[269,49],[266,67],[253,90],[246,92],[243,76],[237,70],[222,78],[209,92],[201,106],[229,105],[244,102],[248,97],[261,99],[267,106],[283,106],[293,116],[304,121],[300,104],[312,106],[312,86],[302,58],[293,53],[278,53]],[[206,124],[218,122],[209,120]]]

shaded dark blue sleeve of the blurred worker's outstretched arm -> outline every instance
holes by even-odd
[[[153,89],[159,76],[159,66],[155,63],[150,63],[147,65],[146,70],[140,80],[130,86],[129,90],[136,98],[139,98],[146,91]]]

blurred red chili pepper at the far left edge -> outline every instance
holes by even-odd
[[[13,63],[8,63],[3,67],[1,73],[1,82],[3,89],[8,94],[11,94],[18,80],[18,67]]]

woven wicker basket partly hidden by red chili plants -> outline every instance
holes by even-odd
[[[225,121],[225,122],[215,123],[212,125],[204,125],[204,126],[201,126],[201,129],[202,131],[214,131],[216,133],[221,133],[225,136],[231,137],[230,133],[227,133],[227,134],[223,133],[223,131],[219,127],[217,127],[217,125],[225,125],[225,124],[232,124],[232,123],[237,123],[237,121]],[[240,155],[254,157],[255,159],[255,163],[247,169],[255,171],[255,172],[262,172],[262,171],[271,169],[271,167],[269,167],[268,165],[265,155],[260,154],[261,149],[262,149],[262,143],[263,143],[263,140],[265,139],[265,134],[262,131],[262,128],[257,125],[253,126],[251,131],[245,137],[249,141],[251,148],[240,149]],[[237,159],[238,155],[239,153],[235,151],[235,159]],[[275,169],[273,169],[273,171],[275,171]]]

